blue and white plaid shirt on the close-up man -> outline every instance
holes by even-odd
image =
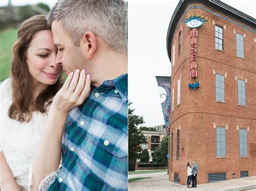
[[[48,190],[127,190],[127,93],[127,74],[105,80],[69,113]]]

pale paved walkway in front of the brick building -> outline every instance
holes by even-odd
[[[256,176],[248,178],[227,180],[197,185],[197,188],[187,188],[184,185],[170,182],[166,173],[131,174],[130,178],[152,177],[132,181],[129,183],[130,190],[256,190]]]

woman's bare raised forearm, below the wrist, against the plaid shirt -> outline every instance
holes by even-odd
[[[50,109],[38,147],[32,159],[32,186],[37,189],[46,175],[59,167],[66,114]]]

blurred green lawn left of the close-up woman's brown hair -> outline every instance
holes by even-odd
[[[17,39],[18,29],[0,31],[0,81],[10,77],[12,45]]]

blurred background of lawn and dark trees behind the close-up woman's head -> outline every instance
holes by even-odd
[[[50,8],[47,4],[0,7],[0,81],[10,77],[12,45],[17,39],[18,26],[34,15],[47,15]]]

